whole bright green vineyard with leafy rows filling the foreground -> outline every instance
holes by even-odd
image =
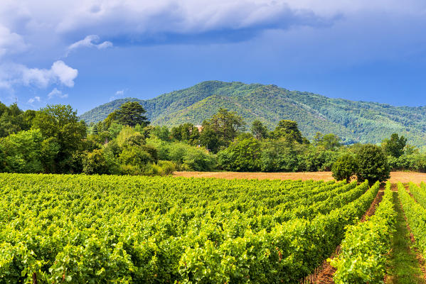
[[[0,283],[380,283],[395,195],[378,183],[0,174]],[[426,253],[426,185],[398,185]],[[365,219],[365,218],[364,218]],[[379,281],[379,282],[378,282]]]

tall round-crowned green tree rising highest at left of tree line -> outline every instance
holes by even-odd
[[[84,150],[82,139],[87,131],[84,121],[78,120],[77,111],[73,111],[70,105],[48,105],[37,112],[33,127],[40,129],[44,139],[55,138],[59,146],[54,158],[56,171],[69,173],[73,155]]]

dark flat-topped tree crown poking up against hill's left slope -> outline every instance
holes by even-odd
[[[139,102],[126,102],[113,112],[110,119],[131,127],[137,124],[145,127],[149,124],[147,116],[143,115],[146,112]]]

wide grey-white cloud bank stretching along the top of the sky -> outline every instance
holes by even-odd
[[[69,53],[112,42],[235,42],[274,29],[333,26],[355,14],[424,18],[425,9],[421,0],[2,0],[0,25],[11,34],[33,35],[31,46],[62,44]]]

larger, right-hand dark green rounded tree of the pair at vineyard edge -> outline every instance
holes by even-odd
[[[374,182],[384,182],[390,178],[390,167],[380,147],[372,144],[363,145],[356,157],[358,169],[356,177],[358,181],[368,180],[370,185]]]

